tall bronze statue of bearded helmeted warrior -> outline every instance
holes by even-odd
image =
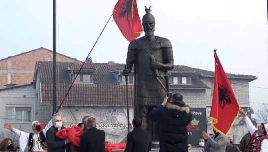
[[[134,117],[140,117],[143,128],[152,134],[152,141],[159,141],[156,122],[148,113],[163,102],[169,91],[167,70],[174,68],[173,50],[170,40],[155,36],[155,17],[150,13],[151,6],[145,6],[146,14],[142,18],[145,36],[130,42],[127,52],[128,75],[134,64],[135,100]]]

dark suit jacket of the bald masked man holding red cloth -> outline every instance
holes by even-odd
[[[64,128],[62,128],[64,129]],[[71,147],[69,144],[65,144],[65,140],[60,139],[56,136],[58,128],[52,126],[46,132],[46,140],[48,146],[48,152],[71,152]]]

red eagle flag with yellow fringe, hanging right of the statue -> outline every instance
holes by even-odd
[[[215,78],[210,119],[213,121],[214,130],[228,135],[238,117],[240,106],[216,50],[214,50],[214,57]]]

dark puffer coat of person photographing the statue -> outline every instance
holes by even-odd
[[[160,152],[188,152],[187,125],[192,118],[189,106],[158,105],[149,117],[159,123]]]

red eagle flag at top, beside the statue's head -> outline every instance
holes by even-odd
[[[137,0],[118,0],[114,6],[113,19],[129,42],[143,32]]]

